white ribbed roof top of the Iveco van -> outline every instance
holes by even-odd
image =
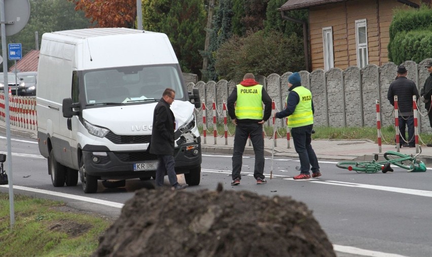
[[[138,33],[155,33],[155,32],[132,29],[132,28],[124,28],[124,27],[83,28],[83,29],[62,30],[62,31],[52,32],[52,34],[75,37],[77,39],[86,39],[86,38],[113,36],[113,35],[122,35],[122,34],[138,34]]]

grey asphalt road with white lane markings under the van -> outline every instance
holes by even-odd
[[[5,153],[6,135],[0,134],[0,153]],[[295,181],[297,158],[266,159],[268,183],[257,185],[253,177],[255,159],[243,158],[241,185],[231,186],[231,156],[204,154],[199,186],[186,190],[213,190],[222,182],[225,190],[250,190],[269,197],[289,196],[313,210],[314,217],[334,244],[338,256],[431,256],[432,173],[357,174],[339,169],[336,162],[320,160],[322,176]],[[104,188],[84,194],[81,182],[75,187],[53,187],[47,159],[39,153],[36,140],[12,136],[12,166],[15,194],[62,200],[82,210],[116,217],[134,191],[146,186],[139,179],[123,188]],[[5,163],[7,170],[8,163]],[[182,180],[183,176],[179,176]],[[168,184],[166,178],[166,184]],[[0,191],[8,192],[8,186]]]

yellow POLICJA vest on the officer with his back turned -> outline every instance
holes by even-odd
[[[237,119],[263,119],[263,85],[237,85],[235,116]]]

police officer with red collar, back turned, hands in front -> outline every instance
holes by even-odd
[[[264,176],[263,123],[271,116],[271,98],[264,87],[255,81],[254,74],[246,73],[228,97],[227,107],[228,115],[236,124],[231,185],[240,184],[243,151],[249,136],[255,152],[254,177],[257,184],[267,183]]]

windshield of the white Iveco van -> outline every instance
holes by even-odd
[[[175,90],[175,99],[184,98],[175,65],[90,70],[83,78],[87,105],[157,101],[167,87]]]

